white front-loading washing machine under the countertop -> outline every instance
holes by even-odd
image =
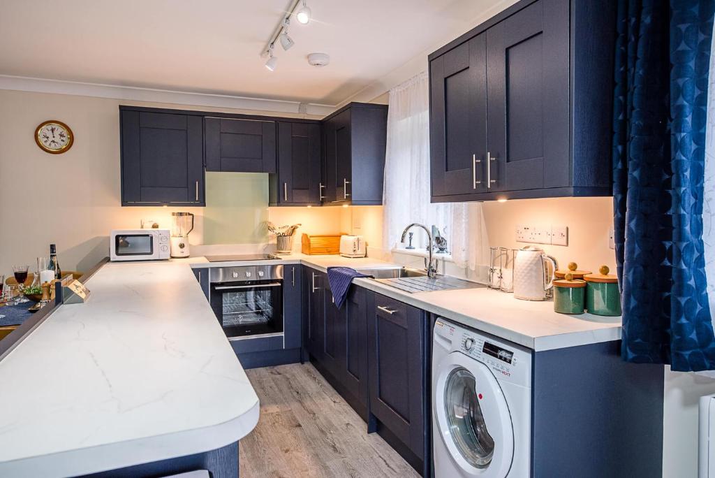
[[[435,478],[528,477],[531,351],[438,318],[432,425]]]

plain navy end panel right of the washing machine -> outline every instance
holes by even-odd
[[[660,477],[663,369],[620,341],[534,353],[532,476]]]

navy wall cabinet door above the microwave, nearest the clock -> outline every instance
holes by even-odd
[[[203,120],[119,107],[122,205],[204,203]]]

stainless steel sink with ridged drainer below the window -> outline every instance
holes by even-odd
[[[358,269],[358,271],[363,274],[372,275],[375,281],[409,293],[456,291],[458,289],[485,287],[482,284],[463,281],[462,279],[450,277],[449,275],[428,277],[425,270],[406,267]]]

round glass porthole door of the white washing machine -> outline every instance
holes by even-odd
[[[490,369],[460,352],[440,362],[434,413],[440,436],[463,477],[503,478],[511,468],[514,431],[504,394]]]

